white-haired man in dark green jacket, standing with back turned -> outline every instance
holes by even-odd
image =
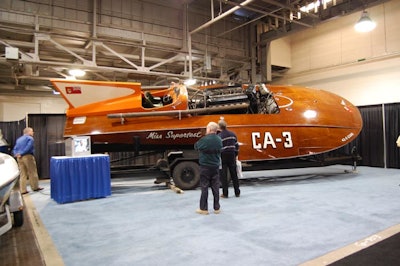
[[[222,141],[217,135],[218,125],[210,122],[206,128],[206,135],[199,139],[195,144],[195,150],[199,151],[200,164],[200,209],[199,214],[208,214],[208,188],[214,196],[214,213],[220,213],[219,205],[219,168],[221,165]]]

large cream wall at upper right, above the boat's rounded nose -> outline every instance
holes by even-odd
[[[292,68],[274,83],[320,88],[353,104],[400,102],[400,1],[367,9],[377,27],[357,33],[361,12],[291,37]]]

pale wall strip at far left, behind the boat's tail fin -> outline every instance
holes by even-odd
[[[59,97],[24,97],[0,95],[0,121],[19,121],[27,114],[63,114],[66,102]]]

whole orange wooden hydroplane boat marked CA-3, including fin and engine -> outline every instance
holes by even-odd
[[[362,128],[349,101],[299,86],[52,83],[69,104],[64,136],[90,136],[102,151],[193,150],[205,126],[223,118],[238,137],[239,159],[257,162],[329,152],[353,141]]]

